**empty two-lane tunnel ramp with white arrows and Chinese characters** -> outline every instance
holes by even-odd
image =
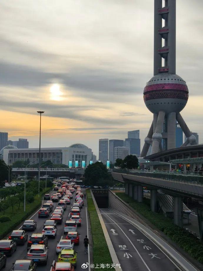
[[[157,245],[137,227],[109,209],[99,209],[122,270],[180,270]]]

